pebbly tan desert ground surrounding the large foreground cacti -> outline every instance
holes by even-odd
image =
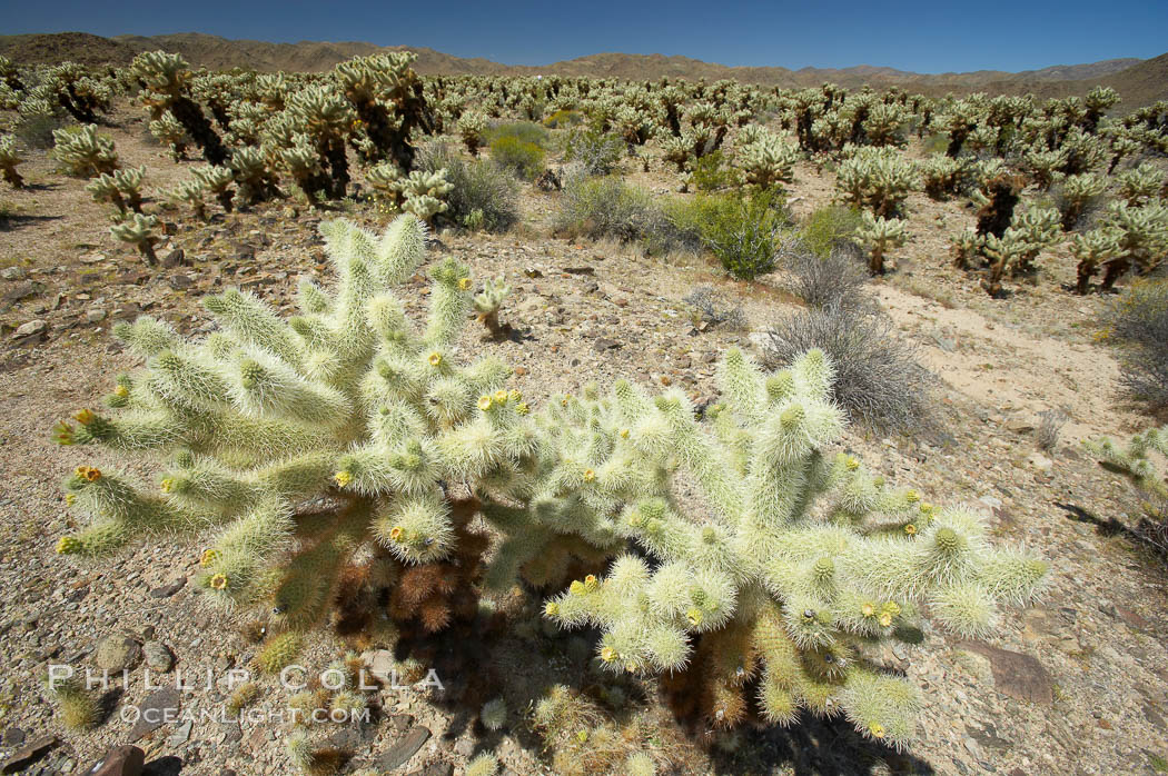
[[[126,163],[148,167],[147,186],[166,188],[189,163],[172,163],[142,141],[140,119],[116,117]],[[29,190],[4,193],[18,208],[0,232],[0,763],[4,772],[82,774],[118,744],[137,743],[151,774],[216,776],[288,774],[287,726],[222,722],[230,671],[255,646],[237,617],[204,608],[189,583],[197,538],[140,546],[98,562],[54,553],[71,526],[60,481],[85,452],[53,443],[53,425],[107,392],[113,376],[134,366],[110,337],[118,320],[165,317],[187,333],[207,333],[204,293],[242,286],[291,309],[296,278],[325,273],[315,225],[347,215],[383,223],[373,208],[349,204],[319,212],[278,204],[193,222],[171,211],[175,233],[147,270],[106,235],[106,215],[83,182],[53,172],[33,155],[22,166]],[[672,176],[637,176],[675,189]],[[792,189],[797,215],[823,204],[830,174],[800,166]],[[506,274],[514,287],[503,320],[520,336],[481,340],[472,323],[465,354],[494,352],[515,370],[514,386],[540,403],[586,382],[618,376],[677,385],[697,399],[715,394],[714,372],[731,344],[755,348],[752,333],[794,309],[781,273],[753,286],[725,279],[702,257],[646,258],[634,247],[550,236],[556,194],[523,195],[523,224],[503,236],[442,233],[430,258],[452,253],[477,278]],[[990,300],[950,268],[947,237],[972,219],[955,203],[910,200],[913,239],[897,272],[872,289],[899,334],[938,375],[941,422],[919,438],[869,438],[846,443],[874,468],[912,484],[934,503],[968,503],[993,516],[994,534],[1023,541],[1050,560],[1044,600],[1008,610],[997,635],[962,642],[926,627],[915,648],[884,653],[923,690],[919,739],[906,753],[862,742],[843,722],[808,722],[791,730],[745,730],[725,747],[687,762],[691,772],[1168,772],[1168,585],[1163,559],[1131,534],[1136,498],[1117,475],[1080,452],[1093,434],[1126,434],[1150,421],[1115,394],[1118,366],[1092,338],[1107,300],[1061,288],[1069,257],[1045,259],[1042,277],[1011,299]],[[694,328],[682,301],[709,286],[741,306],[749,327]],[[420,277],[402,296],[425,308]],[[1069,417],[1054,450],[1035,441],[1037,414]],[[114,461],[142,477],[139,461]],[[535,677],[557,676],[558,658],[529,657],[516,643],[513,665]],[[339,656],[320,634],[303,658],[322,666]],[[369,656],[376,660],[376,656]],[[531,667],[533,663],[537,664]],[[89,733],[65,730],[41,687],[49,664],[130,667],[106,697],[109,718]],[[172,665],[167,665],[172,664]],[[158,688],[147,687],[151,669]],[[174,690],[181,672],[188,688]],[[208,681],[208,676],[210,680]],[[160,678],[161,677],[161,678]],[[452,680],[458,685],[459,678]],[[256,709],[279,711],[287,691],[260,680]],[[508,726],[487,733],[477,709],[445,702],[433,691],[373,693],[378,721],[338,727],[340,746],[357,756],[346,767],[377,772],[460,772],[493,749],[513,774],[550,772],[540,744],[514,708]],[[127,709],[181,708],[153,729]],[[514,706],[514,705],[513,705]],[[26,764],[27,763],[27,764]]]

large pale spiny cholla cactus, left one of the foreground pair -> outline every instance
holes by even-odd
[[[67,489],[95,522],[62,539],[62,552],[100,554],[135,536],[218,527],[202,559],[208,594],[266,599],[276,623],[310,627],[329,613],[340,569],[359,548],[380,546],[408,566],[394,569],[404,583],[409,571],[456,557],[456,539],[472,541],[460,531],[473,509],[447,498],[445,483],[522,494],[541,466],[554,466],[555,448],[533,457],[536,427],[521,397],[502,390],[508,370],[491,358],[453,363],[471,306],[466,268],[450,259],[433,270],[430,319],[416,334],[388,288],[422,260],[422,224],[402,216],[380,239],[347,222],[321,231],[339,288],[331,295],[305,282],[300,316],[284,322],[230,291],[207,300],[221,330],[199,343],[150,319],[119,327],[147,359],[109,399],[124,412],[83,411],[78,427],[57,428],[58,440],[169,454],[171,469],[154,494],[78,469]],[[298,516],[298,504],[321,495],[338,504],[328,519]],[[527,533],[522,545],[538,547],[555,530]],[[422,590],[401,603],[426,600]],[[440,625],[446,615],[420,616]]]

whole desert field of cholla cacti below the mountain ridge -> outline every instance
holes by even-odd
[[[0,748],[1168,762],[1168,103],[126,62],[0,57]]]

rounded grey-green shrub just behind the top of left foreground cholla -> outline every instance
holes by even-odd
[[[519,186],[494,161],[467,161],[445,144],[425,148],[418,166],[427,173],[446,170],[454,187],[445,195],[444,217],[459,226],[488,232],[505,232],[519,221]]]

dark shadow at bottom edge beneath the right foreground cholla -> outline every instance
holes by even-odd
[[[794,776],[869,776],[937,770],[925,760],[869,741],[846,719],[805,715],[790,728],[751,734],[751,746],[735,756],[715,757],[716,772],[791,772]]]

